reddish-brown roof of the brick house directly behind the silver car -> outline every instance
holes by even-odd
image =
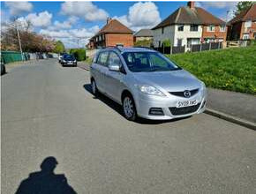
[[[96,34],[132,34],[132,30],[127,26],[124,26],[117,19],[110,19],[109,23],[102,27],[102,29]]]

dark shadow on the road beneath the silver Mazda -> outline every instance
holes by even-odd
[[[87,92],[93,94],[92,86],[90,84],[85,84],[84,88],[87,90]],[[123,116],[122,106],[119,105],[116,101],[112,101],[107,96],[103,95],[102,93],[99,93],[98,97],[94,96],[94,99],[98,99],[98,100],[104,102],[110,108],[114,109],[117,113],[119,113],[121,116]],[[191,116],[187,116],[187,117],[184,117],[184,118],[176,118],[176,119],[172,119],[172,120],[158,120],[158,121],[157,120],[148,120],[148,119],[145,119],[145,118],[139,118],[139,119],[137,119],[136,123],[140,123],[140,124],[172,123],[172,122],[183,120],[183,119],[186,119],[186,118],[189,118],[189,117],[191,117]]]

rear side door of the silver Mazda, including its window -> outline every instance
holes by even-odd
[[[106,93],[105,74],[108,71],[109,51],[102,51],[94,65],[95,81],[98,89]]]

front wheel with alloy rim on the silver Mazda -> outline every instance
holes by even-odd
[[[124,117],[129,121],[135,121],[137,119],[137,111],[132,95],[124,96],[123,100],[123,112]]]

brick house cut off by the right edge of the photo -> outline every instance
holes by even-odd
[[[248,40],[256,39],[256,4],[238,14],[229,22],[228,39]]]

